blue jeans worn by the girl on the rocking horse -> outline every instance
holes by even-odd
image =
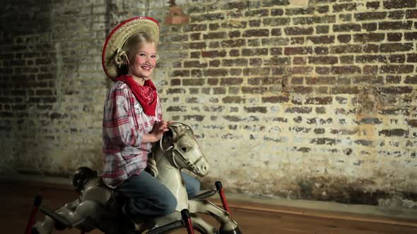
[[[181,172],[188,197],[194,197],[200,190],[196,178]],[[171,214],[177,207],[177,199],[165,185],[146,171],[132,176],[117,187],[127,197],[124,213],[127,216],[144,218]]]

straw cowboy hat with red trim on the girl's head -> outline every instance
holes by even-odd
[[[114,30],[107,37],[104,47],[102,47],[101,56],[102,68],[110,79],[114,80],[117,78],[118,65],[115,58],[125,53],[122,50],[124,43],[131,35],[137,32],[146,33],[153,39],[155,44],[158,44],[159,24],[154,18],[139,16],[126,20],[114,27]]]

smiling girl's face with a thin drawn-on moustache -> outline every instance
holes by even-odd
[[[154,43],[143,42],[136,51],[134,61],[129,64],[129,75],[133,78],[150,78],[156,65],[156,46]],[[133,63],[132,63],[133,62]]]

